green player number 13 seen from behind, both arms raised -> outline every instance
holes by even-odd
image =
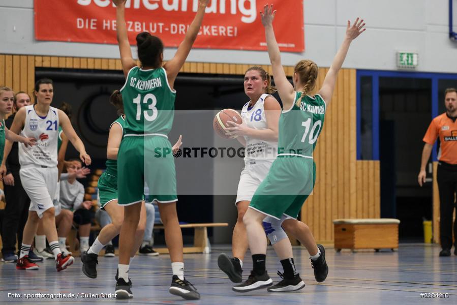
[[[126,114],[125,136],[120,144],[118,168],[118,204],[125,207],[119,237],[119,278],[117,298],[133,297],[128,277],[129,260],[140,218],[144,180],[149,194],[159,203],[165,227],[165,241],[170,252],[173,277],[169,292],[185,299],[199,299],[200,294],[184,278],[182,234],[176,214],[176,173],[167,134],[174,117],[176,76],[197,38],[209,0],[200,0],[198,11],[173,58],[163,64],[163,43],[143,32],[137,35],[141,68],[132,57],[125,21],[125,0],[116,5],[117,41],[126,83],[120,92]],[[157,157],[159,151],[160,157]]]

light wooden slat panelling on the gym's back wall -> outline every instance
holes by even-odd
[[[35,69],[41,67],[122,69],[120,59],[0,54],[0,83],[32,94]],[[189,62],[181,71],[243,75],[249,67]],[[271,72],[270,66],[263,67]],[[284,67],[284,70],[286,75],[292,76],[294,67]],[[322,85],[327,72],[327,68],[320,68],[317,87]],[[343,69],[314,153],[316,187],[300,215],[319,242],[333,241],[333,219],[380,217],[379,162],[356,160],[356,142],[356,71]],[[434,198],[434,229],[438,228],[436,201]]]

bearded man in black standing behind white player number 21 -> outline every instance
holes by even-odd
[[[13,114],[5,120],[7,128],[11,128],[16,112],[23,106],[30,105],[30,96],[21,91],[15,95],[13,104]],[[22,243],[22,233],[25,222],[28,217],[28,207],[30,198],[22,188],[21,178],[19,176],[20,164],[18,155],[18,144],[13,142],[10,155],[6,160],[7,173],[3,179],[6,207],[4,211],[4,221],[2,223],[2,261],[16,262],[16,236],[17,245]],[[42,261],[43,258],[35,255],[33,251],[28,255],[29,259],[34,262]]]

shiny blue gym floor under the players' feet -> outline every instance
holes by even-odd
[[[336,253],[327,248],[329,275],[324,283],[314,280],[308,252],[294,248],[295,264],[306,287],[293,293],[269,293],[265,290],[246,294],[233,292],[233,284],[217,267],[220,252],[230,253],[229,246],[212,248],[211,254],[185,255],[186,278],[201,293],[201,300],[186,301],[168,293],[170,261],[168,255],[136,257],[130,269],[134,298],[126,301],[103,297],[114,293],[117,257],[100,257],[98,278],[86,278],[81,261],[67,270],[56,272],[54,261],[39,263],[40,270],[16,270],[13,263],[0,263],[0,302],[14,303],[132,303],[132,304],[457,304],[457,256],[438,257],[438,246],[400,245],[399,251],[379,253],[365,251]],[[453,251],[452,251],[453,252]],[[251,267],[246,259],[247,278]],[[282,270],[275,253],[269,249],[267,269],[277,282]],[[19,297],[8,297],[8,294]],[[26,294],[64,293],[74,298],[30,298]],[[447,298],[432,297],[448,294]],[[87,294],[97,294],[90,297]],[[424,297],[421,297],[424,294]],[[429,297],[425,297],[429,296]]]

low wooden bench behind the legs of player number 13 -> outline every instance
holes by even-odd
[[[208,227],[228,227],[228,223],[203,223],[203,224],[184,224],[179,225],[181,229],[194,228],[194,245],[193,247],[184,247],[183,253],[209,253]],[[164,229],[163,225],[154,225],[154,229]],[[156,248],[154,250],[160,254],[168,253],[167,248]]]

